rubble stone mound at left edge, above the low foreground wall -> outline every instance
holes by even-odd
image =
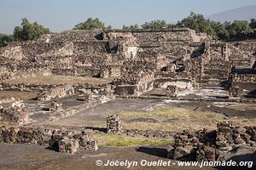
[[[5,125],[22,125],[28,121],[23,101],[9,98],[0,100],[0,122]]]

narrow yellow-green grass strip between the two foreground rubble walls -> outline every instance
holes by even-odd
[[[132,138],[118,135],[96,136],[100,146],[127,147],[137,145],[159,145],[173,143],[173,139]]]

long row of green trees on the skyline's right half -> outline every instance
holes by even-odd
[[[139,26],[123,26],[123,29],[136,29]],[[234,20],[233,22],[216,22],[213,20],[206,20],[202,14],[191,13],[187,18],[180,20],[177,24],[172,25],[166,23],[165,20],[152,20],[145,22],[142,26],[143,29],[163,29],[163,28],[176,28],[188,27],[195,30],[197,33],[204,32],[208,35],[215,37],[215,39],[224,41],[241,41],[252,39],[256,37],[256,20],[252,19],[251,22],[247,20]]]

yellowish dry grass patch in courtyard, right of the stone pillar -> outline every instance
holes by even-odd
[[[200,130],[215,129],[218,122],[228,121],[239,126],[256,124],[255,118],[231,117],[211,111],[193,111],[189,108],[160,107],[155,111],[119,111],[114,113],[123,120],[125,129],[160,130],[179,132],[183,129]],[[149,119],[157,120],[150,122]],[[148,121],[149,120],[149,121]]]

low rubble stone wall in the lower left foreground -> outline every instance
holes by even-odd
[[[88,130],[76,132],[40,127],[0,127],[0,142],[44,145],[72,154],[78,150],[98,149],[93,133]]]

